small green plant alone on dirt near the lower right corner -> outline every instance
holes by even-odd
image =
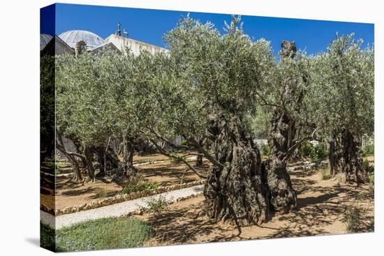
[[[367,209],[364,209],[360,202],[353,202],[346,206],[345,222],[347,232],[357,232],[362,224],[362,218],[366,215]]]

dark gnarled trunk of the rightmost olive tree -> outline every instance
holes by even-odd
[[[361,141],[348,130],[334,135],[329,142],[328,158],[332,176],[340,175],[343,181],[366,183],[367,172],[362,168]]]

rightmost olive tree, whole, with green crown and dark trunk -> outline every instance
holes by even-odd
[[[313,57],[309,119],[330,144],[333,175],[367,181],[361,140],[374,132],[374,50],[362,49],[353,34],[339,36]]]

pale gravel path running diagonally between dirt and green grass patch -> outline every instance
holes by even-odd
[[[96,220],[99,218],[110,218],[124,216],[128,213],[138,211],[140,206],[146,206],[146,201],[149,198],[157,198],[163,195],[166,199],[176,202],[177,199],[189,197],[193,195],[199,195],[202,193],[204,185],[193,186],[191,188],[183,188],[179,190],[172,190],[170,192],[161,193],[158,195],[152,195],[149,197],[142,197],[133,199],[131,201],[121,202],[118,204],[111,204],[96,209],[90,209],[87,211],[79,211],[77,213],[69,213],[61,216],[54,217],[50,213],[40,211],[40,221],[55,229],[62,227],[68,227],[76,223],[81,223],[86,220]]]

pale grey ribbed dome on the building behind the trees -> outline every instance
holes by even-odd
[[[66,42],[66,44],[72,48],[76,47],[76,43],[78,41],[83,40],[87,44],[88,50],[93,50],[94,48],[105,43],[103,38],[96,35],[96,33],[84,30],[65,31],[59,35],[59,38],[61,38],[61,40]]]

